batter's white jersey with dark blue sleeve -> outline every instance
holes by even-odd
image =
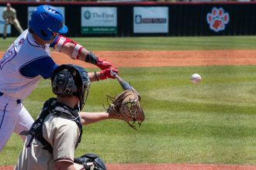
[[[22,32],[0,60],[0,92],[22,100],[41,77],[50,78],[57,65],[50,58],[49,46],[40,46],[28,30]]]

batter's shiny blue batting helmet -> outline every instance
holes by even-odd
[[[68,31],[63,14],[51,5],[40,5],[33,10],[29,28],[45,41],[53,39],[54,32],[64,34]]]

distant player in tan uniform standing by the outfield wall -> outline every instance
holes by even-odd
[[[2,12],[2,18],[5,19],[5,26],[4,26],[4,33],[3,33],[3,39],[6,39],[6,31],[7,26],[12,25],[15,26],[15,28],[19,31],[19,33],[23,32],[22,27],[19,24],[19,20],[16,16],[16,9],[12,8],[12,5],[10,3],[6,4],[6,8],[4,8],[4,11]]]

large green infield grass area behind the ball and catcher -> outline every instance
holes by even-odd
[[[210,163],[256,165],[255,66],[120,69],[142,97],[146,120],[138,131],[108,120],[84,128],[76,156],[94,152],[106,163]],[[202,82],[192,84],[192,73]],[[104,110],[106,93],[122,91],[116,80],[92,83],[87,111]],[[24,102],[36,117],[53,96],[49,80]],[[22,149],[16,135],[0,154],[15,165]]]

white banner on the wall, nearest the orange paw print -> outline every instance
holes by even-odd
[[[133,7],[134,33],[168,33],[168,7]]]

